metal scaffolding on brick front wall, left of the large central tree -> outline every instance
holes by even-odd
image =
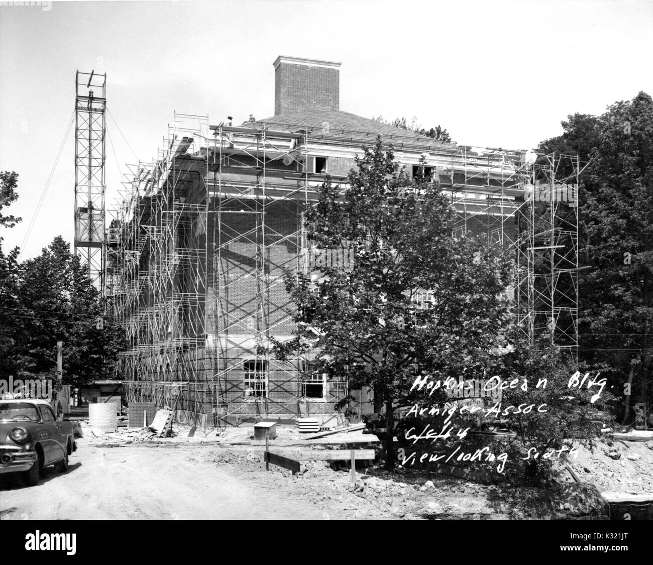
[[[292,331],[283,270],[299,268],[302,217],[319,184],[306,167],[308,133],[225,125],[212,130],[210,327],[219,413],[306,415],[311,405],[302,401],[299,363],[279,362],[267,352],[270,335]],[[259,373],[263,390],[253,396],[242,379],[231,378],[244,361]],[[344,389],[331,383],[334,396]]]

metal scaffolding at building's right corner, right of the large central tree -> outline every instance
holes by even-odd
[[[576,155],[462,147],[439,172],[456,211],[454,233],[484,234],[515,257],[518,323],[534,344],[577,358],[578,186]]]

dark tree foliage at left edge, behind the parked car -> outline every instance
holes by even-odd
[[[7,205],[18,198],[15,173],[1,173]],[[1,209],[1,206],[0,206]],[[0,216],[5,227],[20,218]],[[99,292],[61,236],[34,259],[18,263],[0,238],[0,378],[54,378],[63,342],[63,382],[110,378],[124,334],[104,317]],[[99,318],[103,329],[98,329]]]

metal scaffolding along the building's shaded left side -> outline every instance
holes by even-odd
[[[127,400],[202,413],[206,350],[206,158],[189,153],[208,118],[175,114],[153,163],[131,167],[110,227],[114,313],[129,350]],[[209,402],[210,404],[210,402]]]

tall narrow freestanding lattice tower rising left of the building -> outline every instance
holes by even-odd
[[[75,202],[74,253],[89,280],[104,297],[106,241],[104,234],[104,136],[106,74],[75,76]]]

